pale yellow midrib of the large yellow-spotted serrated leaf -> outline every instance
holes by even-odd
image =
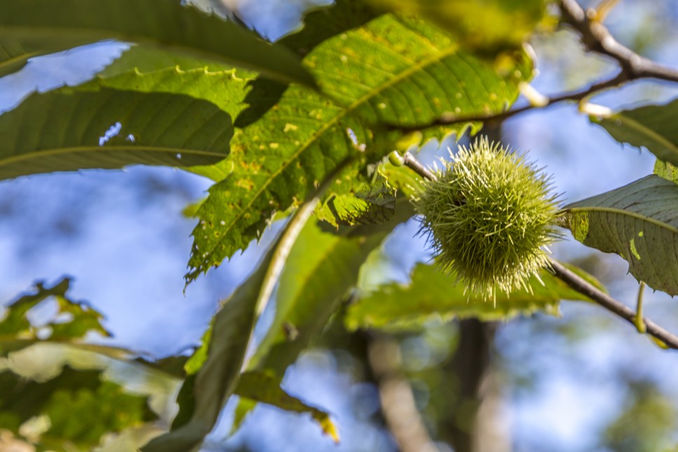
[[[432,55],[431,57],[422,59],[421,62],[419,62],[418,64],[413,64],[411,66],[408,66],[408,69],[406,69],[405,71],[398,74],[398,76],[387,80],[385,83],[383,83],[379,87],[375,87],[375,89],[371,90],[370,92],[363,94],[363,96],[356,99],[356,101],[354,101],[352,104],[347,106],[347,108],[344,108],[342,111],[340,111],[340,113],[338,113],[338,115],[336,115],[334,118],[332,118],[328,122],[325,122],[325,124],[320,129],[318,129],[317,132],[312,134],[312,136],[310,136],[310,138],[307,141],[305,141],[303,143],[303,145],[298,150],[296,150],[296,152],[293,155],[290,156],[289,159],[286,159],[286,162],[284,164],[280,165],[280,167],[278,167],[278,169],[276,169],[273,172],[273,174],[271,174],[271,177],[268,178],[268,180],[264,183],[264,185],[262,185],[261,188],[259,190],[257,190],[257,193],[255,193],[255,195],[250,198],[250,201],[247,202],[247,204],[245,205],[245,208],[241,209],[240,212],[238,212],[238,214],[236,215],[236,217],[233,218],[233,221],[231,221],[231,223],[228,225],[228,227],[226,227],[224,229],[226,231],[226,234],[223,234],[222,238],[219,239],[215,243],[215,246],[213,246],[210,249],[210,255],[226,239],[226,237],[228,236],[228,232],[230,232],[231,229],[233,229],[233,227],[236,225],[236,223],[238,223],[240,218],[242,218],[245,215],[245,213],[247,213],[247,211],[250,210],[250,208],[252,207],[252,204],[254,204],[254,202],[257,199],[259,199],[261,194],[264,193],[264,191],[266,191],[266,188],[268,188],[268,185],[270,185],[275,178],[280,176],[280,174],[282,174],[282,171],[287,169],[292,164],[292,162],[296,162],[299,155],[301,155],[301,153],[303,153],[305,150],[310,148],[310,146],[312,146],[312,144],[315,143],[315,141],[317,141],[319,136],[322,136],[322,134],[324,134],[327,130],[331,129],[331,127],[334,127],[335,125],[337,125],[340,120],[345,118],[345,116],[347,116],[349,113],[352,113],[354,110],[356,110],[356,108],[363,105],[364,103],[366,103],[366,101],[368,101],[372,97],[375,97],[380,92],[382,92],[382,91],[386,90],[387,88],[395,85],[396,83],[400,82],[401,80],[404,80],[405,78],[407,78],[407,76],[412,75],[412,73],[423,70],[424,68],[426,68],[427,66],[429,66],[429,65],[431,65],[435,62],[439,62],[443,58],[449,57],[449,55],[453,55],[457,50],[459,50],[459,45],[456,45],[456,43],[450,43],[449,46],[447,46],[446,48],[441,50],[439,53]],[[333,103],[334,103],[334,99],[332,99],[332,97],[330,97],[329,94],[327,94],[327,93],[322,93],[322,94],[324,96],[328,97],[329,99],[331,99],[331,101],[333,101]],[[207,258],[203,258],[203,260],[201,261],[201,267],[204,264],[208,264],[208,262],[209,262],[209,260]]]

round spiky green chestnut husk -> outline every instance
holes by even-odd
[[[476,296],[527,288],[558,237],[549,177],[486,137],[443,164],[414,200],[436,261]]]

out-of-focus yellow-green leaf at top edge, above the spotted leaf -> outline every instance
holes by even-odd
[[[528,41],[542,21],[545,0],[368,0],[375,6],[426,17],[462,45],[497,52]]]

